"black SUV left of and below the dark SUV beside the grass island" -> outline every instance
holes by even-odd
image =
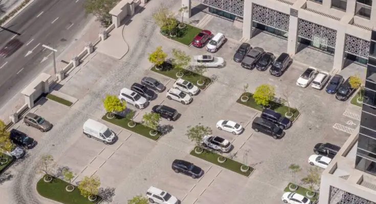
[[[255,132],[261,132],[272,136],[274,139],[279,139],[284,135],[283,130],[280,129],[277,124],[260,117],[256,117],[253,120],[252,129],[255,130]]]

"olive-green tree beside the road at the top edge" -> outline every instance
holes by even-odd
[[[108,26],[112,23],[112,15],[109,11],[113,9],[120,0],[86,0],[84,8],[86,14],[93,14],[102,24]]]

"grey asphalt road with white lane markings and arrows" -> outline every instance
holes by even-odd
[[[0,107],[52,64],[51,51],[42,44],[57,49],[58,55],[75,40],[75,34],[90,20],[83,9],[84,1],[36,0],[3,25],[20,35],[0,29],[0,48],[12,38],[24,45],[8,58],[0,58]]]

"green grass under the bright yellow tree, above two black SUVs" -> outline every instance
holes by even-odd
[[[240,97],[236,100],[237,103],[239,104],[242,104],[242,105],[245,105],[245,106],[248,106],[250,108],[253,108],[253,109],[256,109],[258,111],[262,111],[263,108],[262,106],[260,105],[257,105],[255,100],[253,99],[253,94],[252,93],[245,93],[248,95],[249,97],[249,100],[247,102],[242,102],[240,100]],[[245,94],[242,94],[242,95],[245,95]],[[284,106],[283,104],[279,104],[275,101],[271,101],[270,102],[270,109],[272,109],[273,111],[275,112],[278,112],[280,114],[282,114],[282,116],[284,116],[285,113],[289,112],[289,107],[287,106]],[[294,108],[290,108],[290,112],[292,112],[294,115],[293,117],[291,117],[291,121],[295,121],[295,118],[298,117],[298,115],[300,114],[300,112],[297,110],[297,109],[294,109]]]

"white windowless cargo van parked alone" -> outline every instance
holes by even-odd
[[[102,141],[104,144],[113,144],[115,143],[115,133],[109,130],[109,128],[92,119],[87,119],[83,123],[83,134],[87,137],[93,137],[96,140]]]

